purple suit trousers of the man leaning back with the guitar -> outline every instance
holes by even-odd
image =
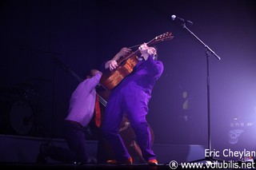
[[[152,150],[150,127],[146,121],[149,101],[150,94],[138,85],[126,85],[125,88],[120,85],[110,94],[102,123],[102,131],[112,146],[116,160],[127,160],[130,157],[118,132],[124,113],[126,113],[130,125],[134,129],[143,158],[146,161],[156,159]]]

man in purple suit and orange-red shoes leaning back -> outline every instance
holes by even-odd
[[[149,111],[149,101],[155,82],[162,75],[162,61],[157,61],[156,49],[146,43],[139,46],[141,56],[130,75],[125,77],[110,93],[106,105],[102,132],[112,145],[115,160],[108,160],[108,164],[132,164],[132,158],[127,152],[122,137],[118,133],[123,114],[130,120],[136,139],[142,150],[142,156],[147,164],[158,164],[152,150],[150,127],[146,121]],[[116,69],[117,60],[129,53],[130,49],[124,47],[110,61],[105,63],[105,69]]]

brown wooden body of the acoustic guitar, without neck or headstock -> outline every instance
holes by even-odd
[[[102,74],[100,84],[106,90],[112,90],[116,87],[126,76],[128,76],[134,69],[134,66],[138,63],[137,56],[134,54],[129,57],[122,65],[119,65],[117,69],[110,71],[106,70],[106,73]]]

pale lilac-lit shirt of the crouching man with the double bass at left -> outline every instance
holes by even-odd
[[[98,85],[102,73],[82,81],[70,97],[70,109],[66,121],[76,121],[83,127],[89,124],[94,115],[96,100],[96,85]]]

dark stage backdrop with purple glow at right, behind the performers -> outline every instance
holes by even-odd
[[[205,48],[175,14],[194,22],[186,26],[222,58],[209,58],[214,148],[256,148],[252,2],[2,1],[1,133],[61,137],[76,75],[170,31],[173,40],[155,44],[165,66],[148,114],[155,143],[207,144]]]

